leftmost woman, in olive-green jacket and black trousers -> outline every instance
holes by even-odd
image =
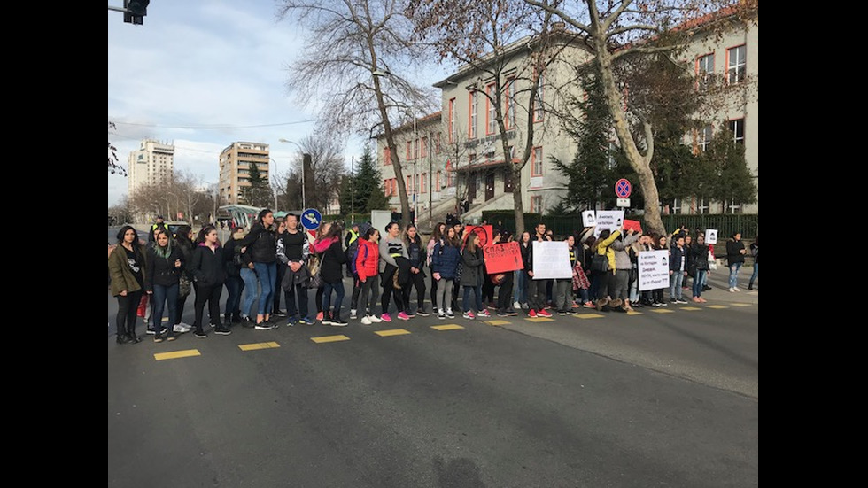
[[[118,298],[117,343],[137,343],[142,339],[136,336],[136,309],[144,292],[147,254],[132,226],[120,228],[118,244],[108,259],[112,296]]]

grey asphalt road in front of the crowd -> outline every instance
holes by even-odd
[[[704,296],[161,344],[116,345],[110,325],[108,484],[756,486],[758,294]]]

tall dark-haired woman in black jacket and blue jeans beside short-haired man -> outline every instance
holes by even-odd
[[[263,208],[250,232],[237,245],[241,252],[251,249],[251,261],[260,283],[260,299],[256,314],[256,329],[271,329],[271,307],[277,283],[277,239],[274,231],[275,213]],[[255,287],[254,289],[255,290]],[[251,291],[253,291],[251,290]]]

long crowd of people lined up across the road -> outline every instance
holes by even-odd
[[[595,236],[594,228],[588,227],[555,237],[541,222],[517,238],[496,229],[486,246],[517,240],[523,269],[493,274],[486,271],[480,236],[461,224],[445,222],[438,222],[427,238],[415,225],[401,229],[396,221],[385,226],[382,236],[369,222],[344,229],[339,221],[323,222],[310,236],[299,229],[297,215],[275,219],[270,209],[264,209],[251,229],[233,226],[226,243],[221,243],[214,225],[206,225],[195,236],[190,226],[181,226],[172,235],[158,221],[149,234],[145,242],[136,229],[124,226],[118,243],[109,246],[110,290],[118,300],[118,344],[141,341],[136,334],[139,314],[147,333],[160,343],[190,331],[200,338],[207,337],[210,329],[229,335],[237,324],[274,329],[283,320],[288,326],[319,322],[345,327],[347,320],[371,325],[429,314],[445,320],[456,312],[475,320],[492,316],[490,310],[498,316],[517,315],[521,310],[530,317],[577,314],[580,307],[629,312],[634,307],[689,303],[684,290],[691,290],[692,301],[704,303],[702,292],[710,290],[709,272],[717,267],[713,246],[705,243],[702,233],[691,235],[685,226],[663,236],[623,227],[603,229]],[[532,242],[555,239],[566,243],[572,276],[534,279]],[[730,292],[740,291],[738,273],[747,252],[754,257],[748,290],[754,289],[759,272],[757,242],[746,250],[739,232],[727,240]],[[640,291],[639,252],[661,250],[669,257],[669,287]],[[345,277],[353,282],[348,314],[343,308]],[[228,296],[221,313],[224,286]],[[316,314],[308,307],[309,290],[314,290]],[[663,298],[667,290],[668,301]],[[181,318],[190,292],[195,296],[195,318],[187,324]],[[280,306],[282,298],[285,310]]]

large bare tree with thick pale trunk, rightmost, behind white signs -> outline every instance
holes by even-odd
[[[593,53],[600,66],[603,92],[616,135],[630,166],[639,176],[645,198],[645,221],[651,230],[664,233],[660,197],[651,169],[654,128],[647,113],[632,107],[629,98],[624,97],[627,86],[616,75],[617,62],[622,58],[678,50],[691,40],[697,27],[696,19],[702,15],[720,20],[706,22],[705,28],[723,28],[726,19],[743,20],[750,12],[756,12],[756,0],[523,1],[562,19]],[[661,36],[668,42],[649,42]],[[632,130],[632,127],[639,130]]]

